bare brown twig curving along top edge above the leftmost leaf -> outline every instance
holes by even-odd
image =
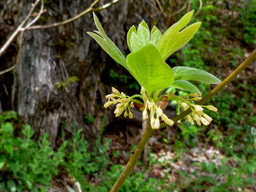
[[[55,22],[55,23],[51,23],[49,25],[37,25],[37,26],[31,26],[29,28],[27,28],[27,30],[31,30],[31,29],[47,29],[47,28],[53,28],[53,27],[59,27],[59,26],[62,26],[62,25],[66,25],[67,23],[70,23],[70,22],[73,22],[81,17],[83,17],[83,15],[87,14],[87,13],[90,13],[90,12],[93,12],[93,11],[100,11],[100,10],[103,10],[103,9],[106,9],[107,7],[109,7],[110,5],[113,5],[115,3],[117,3],[118,1],[120,0],[113,0],[111,1],[110,3],[107,3],[105,5],[102,5],[102,6],[99,6],[97,8],[94,8],[93,9],[93,6],[99,2],[99,0],[96,0],[94,1],[89,8],[87,8],[86,10],[84,10],[83,12],[79,13],[78,15],[76,15],[75,17],[73,18],[70,18],[70,19],[67,19],[65,21],[61,21],[61,22]]]

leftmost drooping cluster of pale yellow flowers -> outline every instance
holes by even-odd
[[[132,110],[133,108],[133,101],[131,101],[129,96],[126,96],[123,92],[119,92],[117,89],[112,87],[112,93],[106,95],[106,98],[108,101],[105,103],[104,107],[107,108],[110,105],[114,104],[116,105],[116,109],[114,111],[114,114],[116,117],[121,115],[124,111],[124,117],[126,117],[127,114],[127,109],[129,111],[129,118],[132,118]],[[117,99],[116,99],[117,98]]]

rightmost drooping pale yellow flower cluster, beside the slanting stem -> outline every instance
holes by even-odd
[[[192,97],[192,98],[185,99],[185,97],[188,97],[188,96]],[[186,116],[189,123],[194,125],[195,124],[194,121],[196,121],[196,123],[198,125],[201,125],[201,122],[204,125],[209,125],[212,121],[212,118],[209,115],[207,115],[203,112],[204,108],[207,108],[207,109],[212,110],[214,112],[216,112],[218,109],[216,107],[211,106],[211,105],[204,106],[204,105],[194,104],[194,101],[198,101],[198,100],[201,99],[201,98],[198,98],[197,96],[199,96],[199,94],[185,95],[184,98],[177,97],[177,98],[179,98],[179,99],[177,99],[178,113],[180,113],[180,107],[182,107],[183,110],[187,110],[187,109],[190,108],[192,113]]]

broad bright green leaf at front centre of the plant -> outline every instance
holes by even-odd
[[[148,91],[171,86],[174,78],[172,69],[164,62],[162,55],[153,44],[142,47],[127,56],[127,65],[135,79]]]

